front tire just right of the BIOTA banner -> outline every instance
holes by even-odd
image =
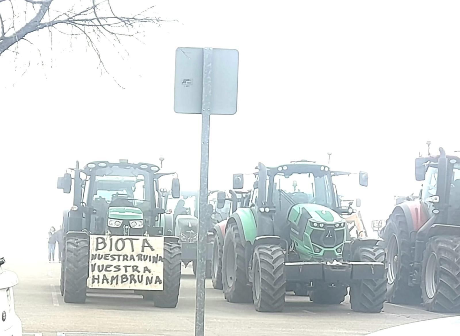
[[[175,308],[179,298],[181,250],[178,242],[165,242],[163,250],[163,290],[154,292],[155,307]],[[150,293],[144,295],[149,300]]]

